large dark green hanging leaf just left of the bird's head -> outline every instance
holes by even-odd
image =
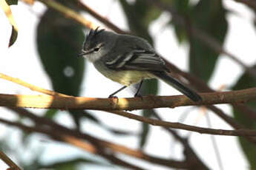
[[[56,92],[79,95],[85,70],[84,58],[77,57],[85,40],[82,28],[53,10],[47,10],[39,22],[36,38],[39,57]],[[72,116],[79,125],[81,115]]]

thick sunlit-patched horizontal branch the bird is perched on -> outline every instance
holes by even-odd
[[[212,105],[218,103],[245,103],[256,98],[256,87],[231,92],[201,93],[202,102],[194,103],[183,95],[145,96],[142,98],[85,98],[48,95],[0,94],[0,106],[41,109],[97,109],[134,110],[177,106]]]

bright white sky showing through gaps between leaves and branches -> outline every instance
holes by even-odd
[[[119,7],[118,1],[113,0],[87,0],[85,1],[90,7],[100,13],[102,16],[106,16],[109,20],[114,22],[122,29],[128,30],[127,23],[124,19],[122,10]],[[242,61],[248,65],[255,64],[255,27],[252,24],[253,13],[244,7],[243,4],[236,3],[232,0],[223,1],[226,8],[234,11],[228,15],[229,20],[229,34],[226,38],[225,48],[237,55]],[[42,69],[42,65],[39,62],[38,53],[36,51],[36,26],[39,22],[39,16],[45,10],[44,5],[36,2],[33,7],[23,4],[19,1],[18,6],[12,6],[13,16],[19,27],[19,36],[13,47],[7,48],[7,44],[10,38],[11,27],[4,16],[2,10],[0,10],[0,72],[20,78],[23,81],[27,81],[30,84],[40,86],[45,89],[51,89],[49,78]],[[93,17],[88,14],[84,16],[96,24],[102,25],[99,21],[96,21]],[[188,47],[180,46],[177,44],[174,30],[172,27],[164,27],[168,18],[171,16],[168,13],[163,13],[154,24],[151,25],[150,33],[155,38],[154,47],[157,52],[160,52],[165,58],[177,65],[180,69],[188,70]],[[92,64],[86,65],[88,72],[85,74],[85,89],[82,90],[82,96],[88,97],[108,97],[111,92],[114,92],[121,85],[116,84],[103,75],[100,75],[96,69],[93,68]],[[220,88],[222,85],[232,86],[237,81],[237,78],[242,74],[242,69],[237,66],[226,56],[221,55],[218,61],[218,67],[214,72],[214,76],[211,78],[210,86],[214,89]],[[103,87],[102,87],[103,84]],[[30,91],[22,86],[10,83],[0,79],[0,92],[7,94],[37,94],[36,92]],[[180,94],[170,86],[160,83],[160,95],[177,95]],[[129,97],[131,91],[126,90],[119,94],[119,97]],[[232,114],[232,109],[227,105],[219,105],[228,115]],[[157,112],[165,118],[165,120],[171,122],[177,122],[180,115],[183,112],[187,112],[191,107],[180,107],[177,109],[157,109]],[[40,109],[31,109],[33,112],[39,115],[44,112]],[[15,120],[16,116],[11,112],[8,112],[4,108],[0,108],[1,118],[8,118]],[[231,129],[223,120],[217,118],[211,112],[209,117],[211,118],[212,128],[214,129]],[[135,120],[129,120],[128,118],[122,118],[116,115],[111,115],[105,112],[93,112],[97,118],[100,118],[105,124],[118,129],[131,130],[132,132],[138,132],[140,129],[140,123]],[[67,126],[72,127],[73,123],[69,120],[69,115],[62,112],[56,119],[59,123],[64,123]],[[30,123],[29,121],[27,123]],[[207,127],[206,117],[202,115],[200,109],[193,109],[189,112],[188,118],[185,123],[194,124],[197,126]],[[105,140],[111,140],[114,143],[120,143],[125,146],[137,148],[138,140],[136,137],[114,137],[104,129],[96,126],[93,123],[86,122],[82,124],[85,132],[88,132],[96,137],[102,137]],[[6,128],[6,126],[0,123],[0,137],[4,137],[7,133],[13,132],[13,129]],[[211,169],[219,169],[217,166],[217,160],[214,154],[213,146],[211,143],[210,135],[200,135],[195,132],[180,131],[183,135],[190,134],[191,146],[197,151],[202,160],[207,163]],[[25,160],[32,157],[32,153],[25,152],[25,149],[21,149],[19,141],[19,130],[16,130],[11,134],[12,140],[8,141],[13,143],[13,149],[17,150],[19,154]],[[46,152],[43,153],[43,162],[53,161],[56,157],[73,157],[74,155],[88,155],[87,153],[76,149],[72,146],[53,142],[52,140],[45,140],[44,136],[33,135],[33,140],[29,143],[30,149],[45,148]],[[215,136],[218,144],[218,148],[221,154],[221,160],[223,162],[224,169],[248,169],[248,163],[243,157],[243,153],[240,151],[240,146],[237,145],[236,137],[222,137]],[[172,145],[170,146],[170,143]],[[145,147],[145,152],[149,154],[159,155],[160,157],[173,157],[182,158],[182,151],[179,144],[175,143],[174,140],[168,135],[165,130],[160,127],[151,126],[150,138],[148,144]],[[10,155],[15,157],[16,155]],[[125,157],[127,161],[135,161],[130,157]],[[15,160],[15,158],[14,158]],[[141,166],[146,169],[165,169],[165,167],[148,165],[142,161],[138,161]],[[91,167],[91,166],[86,166]],[[93,166],[95,168],[95,166]],[[0,169],[7,169],[4,163],[0,163]],[[82,168],[81,168],[82,169]],[[95,168],[96,169],[96,168]],[[101,167],[99,167],[101,169]]]

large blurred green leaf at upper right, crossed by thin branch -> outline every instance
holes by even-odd
[[[190,16],[195,27],[205,31],[223,44],[228,24],[222,1],[201,0],[192,8]],[[220,53],[211,50],[206,43],[199,41],[193,35],[191,35],[190,44],[190,72],[207,82],[211,78]]]

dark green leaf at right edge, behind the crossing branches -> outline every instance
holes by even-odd
[[[256,69],[256,65],[253,67]],[[238,89],[247,89],[250,87],[256,86],[256,79],[251,77],[249,74],[244,73],[239,80],[237,81],[237,84],[235,84],[232,89],[238,90]],[[256,112],[256,101],[250,101],[248,103],[245,103],[246,106],[248,106],[250,109]],[[237,122],[243,124],[248,129],[256,129],[256,121],[253,118],[249,118],[248,115],[244,114],[243,112],[240,112],[238,109],[235,109],[233,107],[233,114],[234,119],[237,120]],[[238,137],[240,145],[242,146],[243,152],[246,154],[247,159],[249,160],[250,169],[256,169],[256,146],[254,143],[250,143],[248,140],[246,140],[244,137]]]

